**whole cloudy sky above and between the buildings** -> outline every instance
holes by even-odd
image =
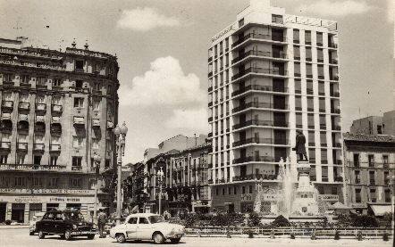
[[[1,37],[116,54],[125,163],[183,134],[209,132],[207,48],[248,0],[0,0]],[[395,109],[392,0],[273,0],[286,13],[338,21],[342,126]]]

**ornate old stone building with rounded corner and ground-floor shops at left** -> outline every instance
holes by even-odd
[[[55,208],[91,218],[96,180],[98,205],[111,208],[116,57],[0,42],[0,222]]]

